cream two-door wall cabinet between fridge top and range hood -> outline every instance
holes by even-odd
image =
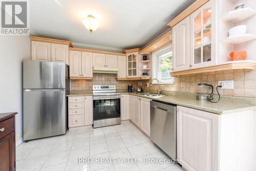
[[[93,54],[70,51],[70,77],[93,77]]]

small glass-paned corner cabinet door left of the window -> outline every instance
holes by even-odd
[[[138,52],[127,53],[127,77],[138,77]]]

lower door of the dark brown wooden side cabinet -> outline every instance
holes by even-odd
[[[15,146],[14,133],[11,132],[7,136],[0,139],[0,170],[15,170]]]

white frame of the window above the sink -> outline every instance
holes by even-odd
[[[172,44],[168,44],[164,47],[162,47],[159,50],[156,50],[152,53],[152,79],[157,78],[160,81],[160,60],[159,56],[168,53],[170,51],[173,51]],[[172,60],[173,61],[173,60]],[[155,65],[157,63],[157,65]],[[159,82],[160,84],[174,84],[175,83],[175,77],[172,77],[173,80],[171,82]],[[157,84],[157,81],[154,80],[153,84]]]

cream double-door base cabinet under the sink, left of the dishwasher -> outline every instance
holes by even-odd
[[[150,136],[150,101],[151,99],[131,95],[131,121],[146,135]]]

